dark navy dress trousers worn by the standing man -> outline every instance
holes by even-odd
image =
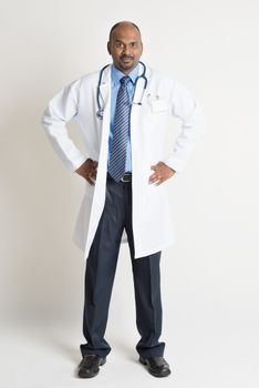
[[[165,343],[158,341],[162,334],[162,253],[134,258],[132,183],[117,183],[107,174],[105,205],[85,268],[83,334],[86,344],[80,346],[82,356],[105,357],[111,351],[104,335],[124,227],[134,278],[136,326],[141,335],[136,350],[143,358],[164,355]]]

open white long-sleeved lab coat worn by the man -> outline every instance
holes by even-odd
[[[139,74],[143,69],[139,65]],[[104,70],[100,100],[104,108],[103,120],[97,119],[96,90],[100,72],[83,75],[63,88],[49,103],[42,125],[58,155],[70,172],[74,172],[87,157],[99,162],[95,185],[85,181],[85,193],[77,214],[73,241],[84,252],[84,259],[93,242],[105,202],[107,152],[111,111],[111,65]],[[149,68],[147,88],[137,82],[131,113],[133,234],[135,258],[153,254],[175,241],[170,219],[166,184],[148,184],[151,165],[165,162],[177,173],[182,172],[196,139],[203,132],[203,114],[191,93],[175,79]],[[168,119],[182,121],[182,132],[165,154]],[[74,119],[82,132],[86,153],[82,154],[69,137],[65,124]],[[122,242],[126,242],[125,231]]]

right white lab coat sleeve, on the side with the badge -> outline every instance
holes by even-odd
[[[183,172],[196,141],[204,133],[204,114],[191,92],[183,84],[175,82],[172,94],[172,114],[182,122],[182,130],[176,137],[173,152],[164,161],[176,173]]]

